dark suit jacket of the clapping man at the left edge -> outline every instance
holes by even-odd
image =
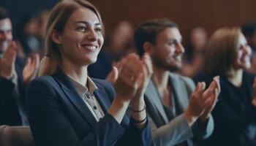
[[[15,71],[18,75],[18,94],[15,93],[15,84],[12,80],[0,77],[0,125],[22,125],[18,102],[23,106],[26,88],[22,76],[24,63],[23,58],[16,58]]]

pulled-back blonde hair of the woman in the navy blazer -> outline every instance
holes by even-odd
[[[64,26],[67,23],[72,12],[75,12],[76,9],[80,7],[86,7],[90,9],[97,15],[99,22],[102,23],[101,16],[99,11],[93,4],[89,3],[86,0],[64,0],[56,4],[53,7],[52,12],[50,12],[50,18],[47,25],[47,34],[45,38],[45,50],[46,55],[42,58],[42,61],[39,66],[39,76],[46,74],[53,74],[56,72],[57,67],[61,63],[61,54],[59,52],[59,47],[51,39],[53,31],[61,33],[64,30]],[[102,24],[103,26],[103,24]]]

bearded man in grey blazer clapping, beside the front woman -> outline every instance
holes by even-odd
[[[181,69],[184,47],[178,26],[167,19],[149,20],[135,31],[140,55],[151,55],[154,74],[145,93],[155,145],[193,145],[192,138],[209,137],[214,129],[211,110],[219,95],[219,79],[209,88],[173,73]]]

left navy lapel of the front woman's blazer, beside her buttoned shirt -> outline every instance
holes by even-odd
[[[61,86],[61,90],[65,94],[65,101],[69,101],[72,103],[72,105],[75,107],[78,112],[85,118],[86,121],[89,122],[91,127],[97,123],[94,116],[91,114],[91,111],[84,103],[83,99],[80,97],[78,92],[76,91],[75,87],[72,85],[72,82],[69,81],[68,77],[64,72],[59,69],[55,74],[53,74],[53,78],[59,82],[59,85]],[[62,97],[62,98],[65,98]]]

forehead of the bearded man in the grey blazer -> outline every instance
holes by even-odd
[[[157,35],[157,39],[181,39],[181,33],[176,27],[165,28]]]

